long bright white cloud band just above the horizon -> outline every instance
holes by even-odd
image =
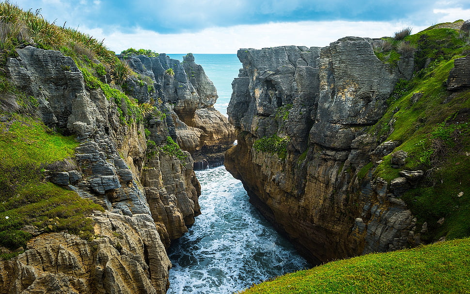
[[[162,53],[236,53],[240,48],[282,45],[324,47],[345,36],[392,36],[407,26],[412,26],[413,32],[427,27],[402,22],[303,21],[217,27],[180,34],[160,34],[142,29],[136,29],[133,33],[115,31],[110,34],[105,34],[101,29],[81,27],[80,30],[97,39],[105,38],[105,44],[116,52],[132,47]]]

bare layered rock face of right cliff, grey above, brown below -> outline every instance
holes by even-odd
[[[415,220],[387,183],[367,172],[358,178],[396,147],[379,146],[364,130],[413,70],[412,58],[383,64],[371,43],[346,37],[326,48],[238,51],[243,68],[228,108],[238,145],[226,152],[225,166],[314,263],[419,242]],[[252,147],[274,134],[289,138],[285,158]]]

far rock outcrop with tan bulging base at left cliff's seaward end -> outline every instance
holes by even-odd
[[[223,163],[223,152],[233,145],[235,130],[214,108],[217,90],[202,66],[194,62],[194,56],[188,53],[183,63],[166,54],[158,57],[131,55],[126,56],[125,61],[141,76],[148,77],[156,89],[149,94],[143,91],[142,96],[140,89],[146,89],[147,84],[139,87],[134,83],[130,89],[133,96],[142,102],[153,98],[171,105],[165,112],[171,116],[167,123],[177,143],[205,166]]]

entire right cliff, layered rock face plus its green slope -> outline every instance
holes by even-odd
[[[443,50],[442,39],[452,40],[452,48],[460,51],[436,54]],[[238,51],[243,68],[232,84],[228,108],[238,145],[226,152],[226,168],[313,263],[414,246],[423,238],[429,242],[448,232],[437,220],[466,211],[427,205],[423,213],[410,204],[417,201],[410,195],[432,186],[429,170],[443,167],[443,162],[423,160],[425,152],[437,156],[429,147],[436,125],[468,122],[468,115],[447,119],[467,103],[460,104],[468,99],[468,92],[461,94],[467,91],[464,76],[451,74],[445,82],[453,59],[468,45],[458,30],[443,28],[406,40],[414,46],[411,54],[393,46],[385,53],[376,49],[381,42],[398,44],[392,38],[360,37],[325,48]],[[422,60],[427,67],[418,64]],[[464,66],[464,60],[458,65]],[[453,81],[463,95],[456,100],[449,92]],[[427,88],[431,84],[435,88]],[[464,149],[466,144],[455,151],[465,154]],[[452,194],[467,188],[456,189]],[[421,201],[441,197],[437,190],[431,194]],[[445,201],[458,204],[455,197]],[[462,237],[470,233],[467,227],[463,231]]]

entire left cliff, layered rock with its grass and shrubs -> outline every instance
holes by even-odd
[[[194,59],[188,78],[165,54],[119,60],[0,15],[0,293],[166,293],[166,248],[200,214],[191,153],[233,142],[215,87]]]

